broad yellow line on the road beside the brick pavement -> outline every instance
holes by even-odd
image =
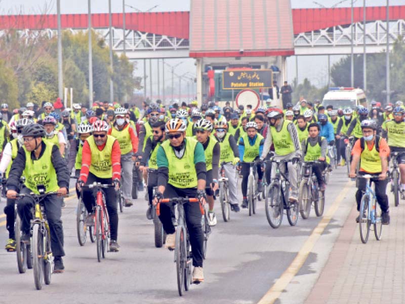
[[[322,217],[321,221],[312,231],[309,238],[305,241],[304,245],[302,245],[300,251],[298,252],[297,256],[294,258],[290,266],[286,269],[286,271],[276,280],[273,286],[266,292],[266,294],[260,299],[258,304],[267,304],[267,303],[274,303],[276,299],[280,296],[281,292],[283,292],[288,284],[292,281],[298,271],[301,269],[302,265],[306,261],[308,254],[311,252],[313,246],[318,241],[320,235],[323,233],[323,230],[328,226],[329,222],[331,221],[333,215],[335,214],[336,210],[338,210],[340,202],[344,199],[345,195],[349,191],[350,187],[353,185],[353,182],[349,180],[346,185],[344,186],[343,190],[340,194],[336,197],[335,201],[333,202],[332,206],[328,209],[328,212]]]

